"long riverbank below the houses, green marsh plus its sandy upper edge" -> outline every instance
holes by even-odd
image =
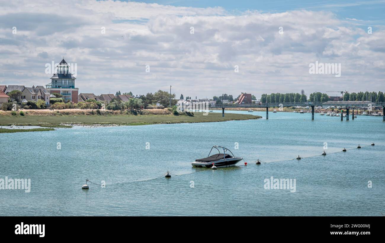
[[[100,112],[100,115],[97,115]],[[152,109],[138,111],[105,111],[100,110],[71,110],[71,111],[32,111],[27,114],[12,115],[11,112],[0,112],[0,125],[9,126],[42,126],[42,127],[70,127],[74,125],[88,126],[133,126],[169,123],[198,123],[232,120],[258,119],[260,116],[226,113],[194,112],[188,115],[173,115],[167,109]],[[14,114],[14,113],[13,113]]]

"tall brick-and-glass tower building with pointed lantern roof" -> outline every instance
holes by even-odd
[[[47,90],[52,93],[63,95],[65,101],[77,103],[79,88],[75,88],[75,77],[69,72],[69,65],[63,60],[57,65],[57,73],[51,77],[51,83],[45,85]]]

